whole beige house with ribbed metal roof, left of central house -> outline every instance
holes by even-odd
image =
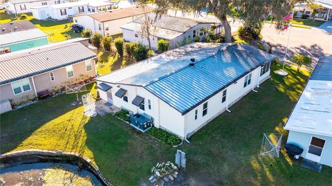
[[[0,55],[1,113],[12,109],[3,109],[10,101],[25,101],[66,82],[95,77],[95,51],[89,38],[80,38]]]

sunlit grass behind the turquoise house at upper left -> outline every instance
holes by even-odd
[[[53,21],[53,20],[37,20],[33,19],[32,14],[24,14],[26,15],[26,19],[21,19],[19,15],[18,18],[15,18],[15,15],[8,15],[3,11],[0,12],[0,24],[6,24],[14,19],[16,21],[30,21],[32,22],[37,28],[45,32],[48,37],[48,41],[50,43],[56,43],[59,41],[65,41],[66,39],[81,37],[80,33],[74,33],[71,30],[71,21],[69,20],[62,20],[62,21]]]

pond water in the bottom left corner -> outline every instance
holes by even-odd
[[[35,162],[0,169],[0,185],[102,185],[86,169],[60,162]]]

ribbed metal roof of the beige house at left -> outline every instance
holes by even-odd
[[[97,57],[81,43],[49,44],[0,55],[0,84]]]

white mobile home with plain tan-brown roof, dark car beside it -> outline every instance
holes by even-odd
[[[73,21],[75,24],[90,29],[93,33],[99,32],[103,36],[116,35],[122,32],[121,26],[137,19],[139,15],[153,10],[154,8],[150,8],[149,6],[145,10],[141,6],[121,8],[106,12],[77,15],[73,17]]]

